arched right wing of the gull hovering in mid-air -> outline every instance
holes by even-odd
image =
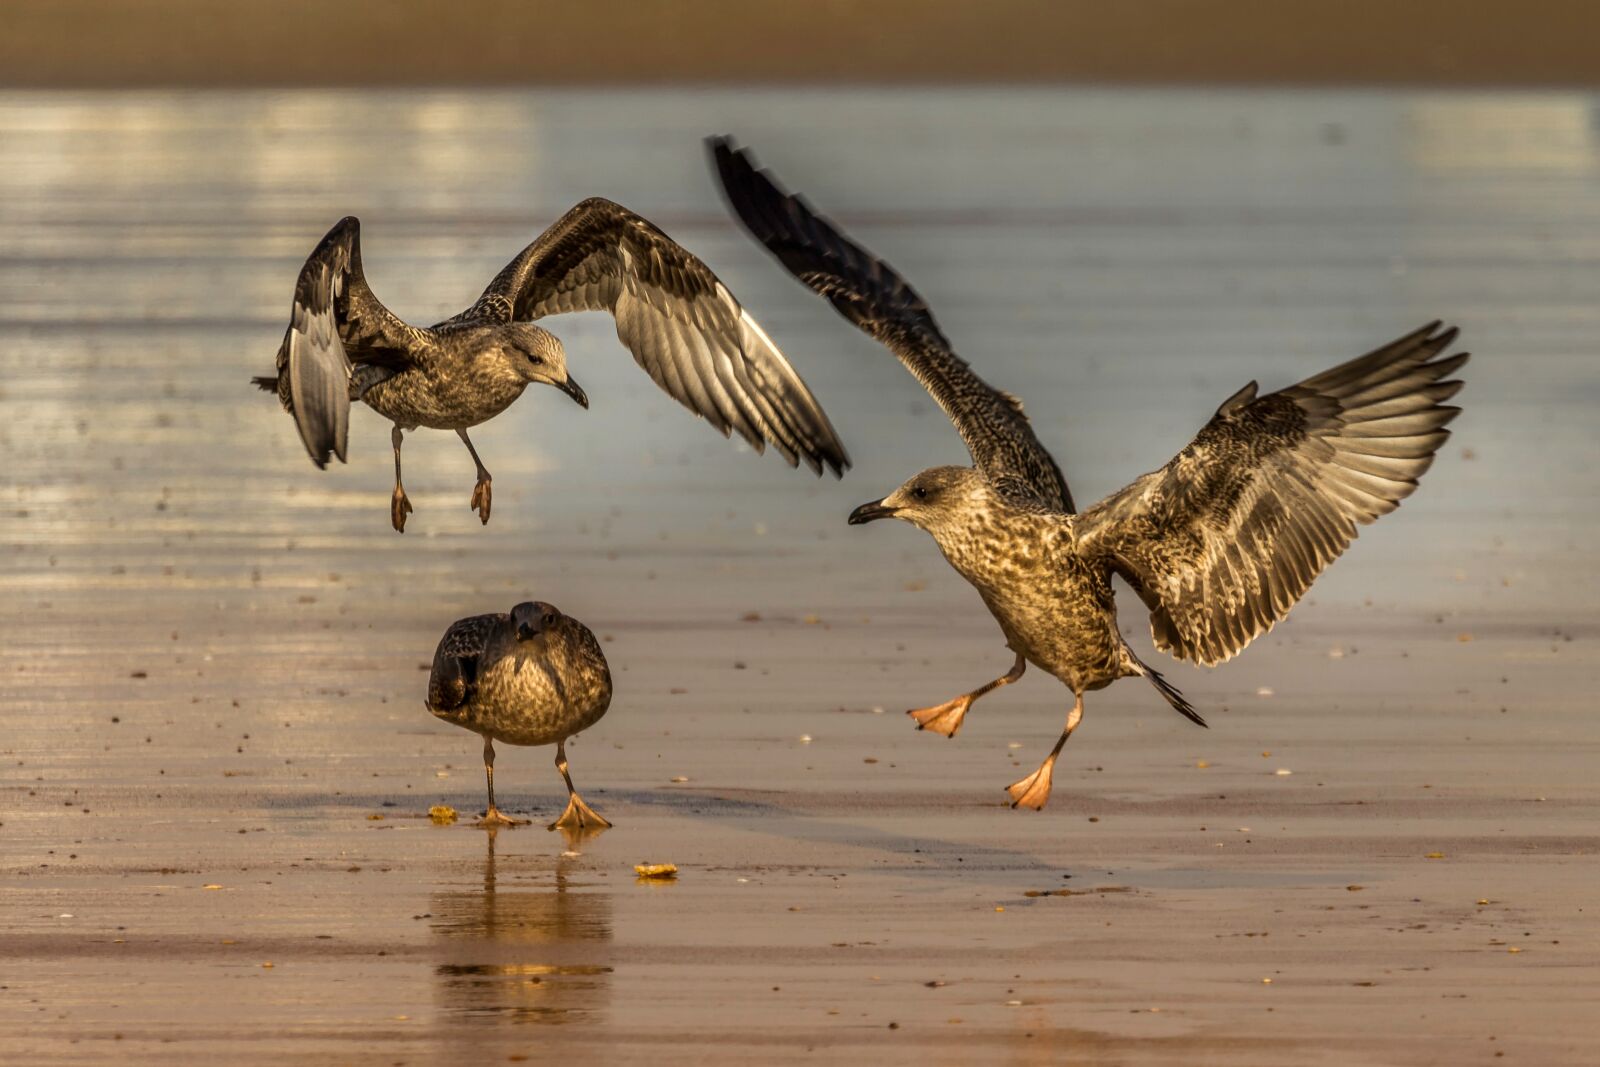
[[[646,219],[584,200],[496,275],[467,312],[526,322],[606,310],[634,360],[723,437],[842,475],[850,456],[778,346],[704,262]]]

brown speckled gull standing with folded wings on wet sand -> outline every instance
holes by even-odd
[[[494,742],[555,745],[555,769],[566,782],[566,811],[550,829],[603,830],[611,825],[573,789],[566,739],[611,705],[611,670],[600,643],[578,619],[555,606],[520,603],[510,614],[477,614],[445,630],[427,681],[427,710],[483,734],[490,806],[478,825],[518,825],[494,806]]]

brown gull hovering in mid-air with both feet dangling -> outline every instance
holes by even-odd
[[[483,296],[437,326],[411,326],[362,275],[362,224],[328,230],[301,267],[278,371],[254,378],[294,416],[317,467],[344,462],[350,400],[394,422],[394,528],[411,512],[400,483],[403,430],[454,430],[472,453],[472,507],[490,520],[490,472],[467,429],[493,419],[531,382],[582,406],[562,342],[533,320],[608,310],[618,339],[678,403],[755,451],[768,443],[816,474],[850,466],[805,382],[717,275],[670,237],[610,200],[584,200],[506,264]]]

